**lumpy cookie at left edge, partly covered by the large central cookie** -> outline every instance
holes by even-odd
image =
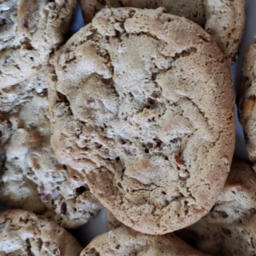
[[[46,73],[0,90],[0,199],[76,228],[101,206],[50,145]]]

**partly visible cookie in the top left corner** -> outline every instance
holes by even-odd
[[[34,76],[64,42],[76,0],[0,2],[0,87]]]

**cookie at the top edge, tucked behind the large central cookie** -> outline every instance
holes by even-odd
[[[89,23],[105,6],[156,9],[160,6],[172,15],[198,23],[218,44],[227,64],[236,61],[244,32],[244,0],[80,0],[84,22]]]

